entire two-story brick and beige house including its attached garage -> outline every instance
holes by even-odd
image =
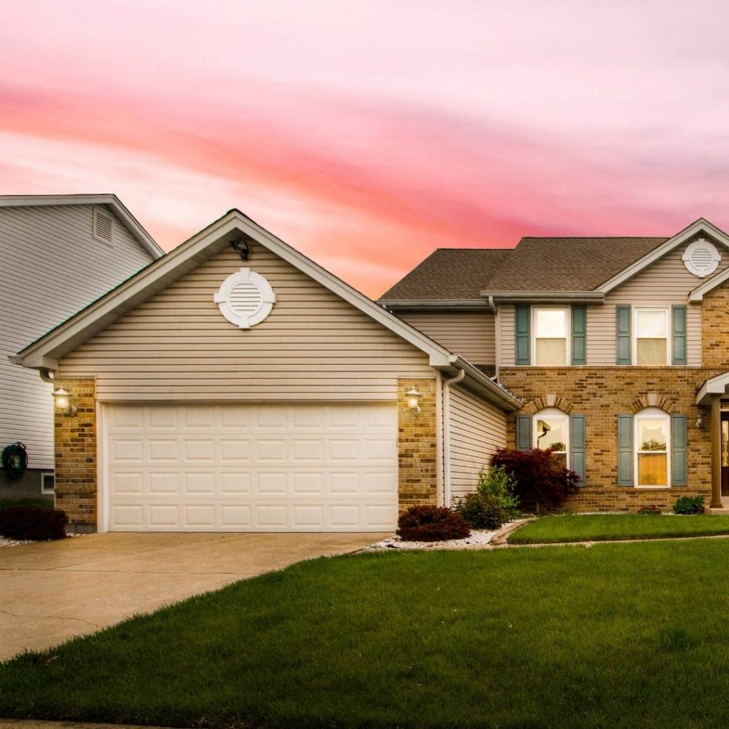
[[[22,349],[75,529],[385,531],[553,448],[572,505],[729,486],[729,235],[442,249],[379,303],[229,211]],[[728,494],[729,496],[729,494]]]

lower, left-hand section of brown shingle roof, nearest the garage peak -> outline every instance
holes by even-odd
[[[510,254],[512,250],[505,248],[436,249],[391,286],[379,301],[480,301],[481,289],[491,281]]]

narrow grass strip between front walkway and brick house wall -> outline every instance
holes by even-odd
[[[570,514],[531,521],[509,537],[510,544],[599,542],[605,539],[710,537],[729,534],[729,516],[648,514]]]

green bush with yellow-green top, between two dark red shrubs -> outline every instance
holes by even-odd
[[[502,467],[482,468],[476,491],[454,498],[453,511],[472,529],[499,529],[519,515],[515,486],[515,480]]]

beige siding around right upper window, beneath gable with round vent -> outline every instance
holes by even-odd
[[[697,278],[686,270],[682,254],[687,246],[656,261],[652,266],[613,289],[601,306],[588,307],[588,364],[615,364],[615,307],[686,305],[687,364],[701,365],[701,304],[687,304],[690,291],[706,278]],[[729,265],[729,256],[717,246],[722,260],[716,272]]]

